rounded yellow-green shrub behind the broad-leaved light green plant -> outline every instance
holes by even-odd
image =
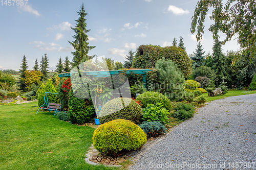
[[[172,110],[172,105],[170,104],[170,100],[163,94],[154,91],[146,91],[136,98],[137,101],[140,101],[141,107],[145,108],[147,104],[162,103],[164,108],[168,111]]]

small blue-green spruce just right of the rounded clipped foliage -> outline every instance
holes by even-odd
[[[199,41],[199,43],[197,44],[197,49],[196,49],[196,53],[194,53],[194,56],[191,57],[190,59],[193,60],[194,62],[192,63],[192,66],[194,68],[200,67],[201,65],[205,65],[205,59],[204,59],[204,49],[202,48],[202,44]]]

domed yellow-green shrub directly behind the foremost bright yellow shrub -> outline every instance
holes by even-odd
[[[125,119],[137,124],[141,116],[141,106],[135,100],[116,98],[103,105],[99,113],[99,121],[100,124],[104,124],[114,119]]]

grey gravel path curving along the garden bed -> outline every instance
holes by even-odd
[[[255,115],[256,94],[212,101],[154,142],[130,169],[256,169]]]

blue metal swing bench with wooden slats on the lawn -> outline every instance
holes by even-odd
[[[45,110],[48,110],[49,112],[55,111],[55,113],[53,115],[53,116],[55,116],[56,112],[61,111],[61,101],[59,101],[60,104],[49,103],[47,94],[58,94],[58,93],[45,92],[45,96],[44,96],[45,103],[44,103],[44,105],[41,105],[39,107],[39,109],[45,109]],[[36,114],[38,113],[39,109],[37,110]]]

